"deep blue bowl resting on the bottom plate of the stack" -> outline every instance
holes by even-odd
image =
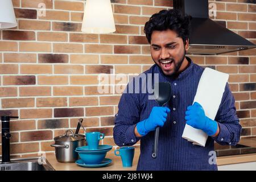
[[[111,150],[111,148],[109,149]],[[82,161],[85,164],[100,164],[102,160],[105,159],[106,153],[109,150],[104,150],[104,151],[77,151],[75,150]]]

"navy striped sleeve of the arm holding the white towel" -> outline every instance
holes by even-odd
[[[235,146],[240,140],[242,127],[236,114],[234,96],[229,89],[228,83],[225,86],[215,121],[218,122],[220,133],[217,137],[212,138],[221,145]]]

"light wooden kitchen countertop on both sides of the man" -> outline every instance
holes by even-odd
[[[107,153],[106,158],[112,159],[113,162],[108,166],[100,168],[87,168],[80,167],[76,163],[59,163],[57,162],[54,154],[48,154],[46,159],[52,165],[56,171],[135,171],[139,159],[139,148],[135,148],[135,155],[133,159],[133,167],[124,168],[122,167],[122,161],[120,156],[114,155],[114,150]],[[256,154],[243,154],[243,155],[230,155],[217,157],[218,166],[226,164],[237,164],[255,162]]]

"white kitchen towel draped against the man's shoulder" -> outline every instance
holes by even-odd
[[[193,103],[198,102],[204,108],[205,115],[210,119],[214,120],[216,117],[228,78],[228,74],[210,68],[205,68],[201,75]],[[204,147],[208,135],[203,130],[186,124],[182,138]]]

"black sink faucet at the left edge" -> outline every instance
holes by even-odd
[[[10,119],[15,116],[1,116],[2,121],[2,163],[10,163]]]

